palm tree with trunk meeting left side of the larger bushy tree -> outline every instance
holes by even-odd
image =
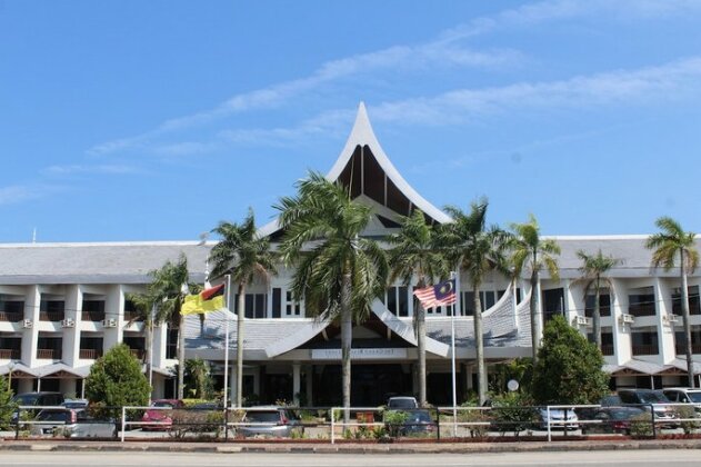
[[[512,223],[511,229],[514,232],[510,246],[513,277],[521,277],[527,268],[531,270],[531,345],[533,347],[533,364],[535,364],[542,334],[539,296],[540,271],[544,267],[553,280],[560,278],[558,261],[554,259],[554,255],[560,255],[560,246],[554,240],[541,238],[540,226],[533,215],[529,216],[528,222]]]

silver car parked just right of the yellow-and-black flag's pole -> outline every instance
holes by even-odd
[[[242,421],[244,425],[237,427],[237,436],[246,438],[289,438],[294,433],[299,435],[304,433],[301,420],[284,407],[251,407],[246,410]]]

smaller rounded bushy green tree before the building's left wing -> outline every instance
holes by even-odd
[[[103,407],[146,406],[150,395],[141,364],[124,344],[98,358],[86,378],[86,397]]]

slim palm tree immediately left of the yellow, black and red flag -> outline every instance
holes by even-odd
[[[188,295],[188,259],[180,255],[177,262],[166,261],[160,268],[149,272],[151,284],[147,294],[157,304],[157,320],[168,319],[178,324],[178,398],[183,398],[184,389],[184,317],[180,308]],[[194,287],[194,285],[193,285]]]

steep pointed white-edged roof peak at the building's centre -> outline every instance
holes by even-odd
[[[387,207],[395,215],[408,216],[414,207],[435,222],[450,222],[451,218],[417,192],[392,165],[380,146],[365,105],[360,102],[355,122],[339,158],[326,177],[350,187],[351,197],[364,197]],[[388,226],[395,221],[388,216],[380,220]],[[262,227],[261,235],[279,230],[278,219]]]

